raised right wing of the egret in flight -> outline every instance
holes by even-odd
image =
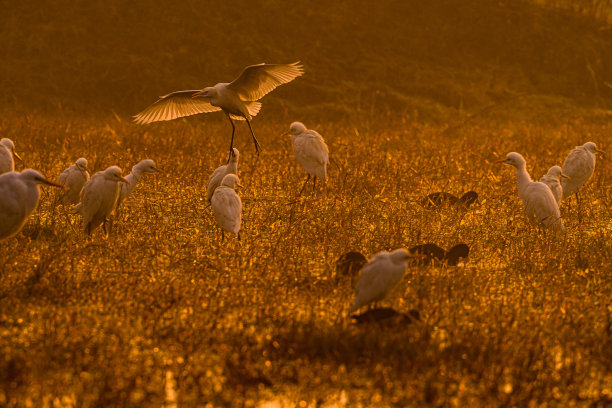
[[[243,101],[256,101],[277,86],[293,81],[304,73],[299,61],[293,64],[259,64],[246,67],[227,87]]]

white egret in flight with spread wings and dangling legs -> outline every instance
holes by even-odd
[[[261,102],[257,101],[276,87],[293,81],[303,73],[299,61],[293,64],[251,65],[246,67],[233,82],[161,96],[157,102],[135,115],[134,120],[136,123],[145,124],[222,110],[232,124],[230,155],[236,131],[233,119],[246,120],[255,142],[255,149],[259,153],[261,148],[251,127],[251,119],[261,109]]]

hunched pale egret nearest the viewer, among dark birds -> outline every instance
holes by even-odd
[[[411,257],[403,248],[374,255],[361,269],[349,313],[384,299],[406,273],[407,261]]]

